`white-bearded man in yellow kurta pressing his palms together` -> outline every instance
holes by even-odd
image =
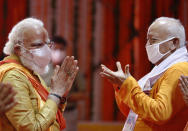
[[[0,62],[0,81],[16,91],[17,104],[0,118],[0,130],[59,131],[65,128],[62,112],[75,76],[77,60],[67,56],[56,66],[48,91],[40,75],[51,60],[48,33],[42,21],[27,18],[8,36]]]

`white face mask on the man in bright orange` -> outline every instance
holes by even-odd
[[[168,38],[164,41],[161,41],[159,43],[153,44],[153,45],[147,45],[146,46],[146,52],[148,55],[148,59],[151,63],[155,64],[157,63],[161,58],[163,58],[163,56],[165,56],[166,54],[168,54],[170,51],[166,52],[165,54],[161,54],[161,52],[159,51],[159,45],[170,41],[172,39],[174,39],[175,37],[171,37]]]

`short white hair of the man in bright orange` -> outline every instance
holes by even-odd
[[[151,26],[156,22],[163,22],[166,25],[167,31],[169,32],[169,37],[178,38],[180,42],[180,47],[185,45],[185,29],[178,19],[169,17],[159,17],[151,24]]]

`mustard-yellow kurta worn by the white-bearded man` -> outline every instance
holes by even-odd
[[[9,56],[6,59],[19,61],[16,56]],[[0,66],[0,72],[6,70],[7,66],[15,66],[15,68],[5,72],[1,80],[13,85],[17,92],[15,96],[17,105],[0,118],[0,130],[59,131],[60,127],[56,121],[57,104],[50,99],[46,102],[42,101],[32,83],[22,71],[16,68],[15,64],[3,64]],[[40,76],[30,73],[46,88]]]

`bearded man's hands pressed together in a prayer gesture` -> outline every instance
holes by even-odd
[[[56,66],[55,68],[54,75],[52,77],[51,93],[58,94],[61,97],[67,96],[78,70],[78,61],[74,60],[73,56],[67,56],[61,67]]]

